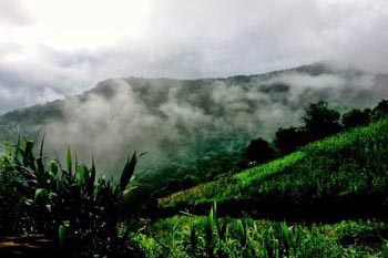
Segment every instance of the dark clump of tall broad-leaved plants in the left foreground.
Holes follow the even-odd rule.
[[[76,257],[127,255],[127,231],[119,234],[119,227],[131,216],[124,208],[136,154],[115,184],[96,177],[94,162],[88,167],[73,161],[70,149],[64,167],[58,159],[44,159],[43,141],[38,156],[33,148],[33,142],[24,140],[1,157],[0,196],[16,207],[1,205],[1,230],[43,234]]]

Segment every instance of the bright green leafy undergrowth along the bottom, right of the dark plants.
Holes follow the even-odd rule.
[[[378,221],[306,226],[218,218],[213,206],[207,216],[161,219],[132,240],[147,257],[381,257],[387,233]]]

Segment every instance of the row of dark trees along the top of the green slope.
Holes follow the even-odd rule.
[[[310,142],[354,127],[365,126],[387,116],[387,100],[378,103],[372,110],[353,109],[343,115],[330,109],[325,101],[310,103],[302,116],[303,124],[300,126],[278,128],[272,143],[262,137],[253,140],[245,149],[245,161],[242,164],[245,167],[262,164],[292,153]]]

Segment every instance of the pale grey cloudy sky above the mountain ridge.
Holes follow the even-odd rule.
[[[388,71],[386,0],[0,0],[0,113],[119,76]]]

